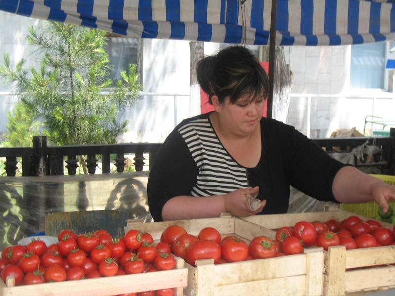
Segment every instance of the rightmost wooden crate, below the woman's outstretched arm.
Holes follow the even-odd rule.
[[[313,213],[293,213],[275,215],[256,215],[242,218],[269,229],[282,226],[294,226],[298,221],[326,222],[329,219],[339,221],[356,215],[336,210]],[[359,216],[363,221],[371,218]],[[381,222],[392,229],[394,225]],[[305,248],[308,250],[310,248]],[[344,246],[330,247],[325,254],[325,275],[323,295],[337,296],[356,291],[385,290],[395,287],[395,246],[346,250]],[[377,267],[386,265],[385,267]],[[355,269],[361,268],[361,269]]]

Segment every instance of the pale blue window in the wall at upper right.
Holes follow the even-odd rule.
[[[384,89],[386,43],[351,46],[350,87]]]

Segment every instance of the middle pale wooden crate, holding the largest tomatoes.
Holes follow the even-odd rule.
[[[223,236],[235,234],[247,243],[256,236],[275,237],[275,232],[242,219],[225,215],[219,218],[191,219],[141,223],[129,221],[130,229],[146,230],[160,240],[161,233],[170,225],[182,226],[197,235],[205,227],[216,228]],[[214,265],[213,259],[198,260],[188,268],[187,296],[240,295],[321,295],[323,288],[323,249],[306,250],[303,254],[257,259]]]

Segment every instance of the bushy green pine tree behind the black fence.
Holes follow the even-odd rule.
[[[27,39],[37,46],[40,69],[27,71],[23,59],[12,69],[5,54],[0,76],[15,86],[32,124],[42,121],[43,133],[56,145],[115,143],[127,125],[118,113],[132,106],[141,90],[136,65],[109,88],[104,31],[49,22],[40,33],[30,28]]]

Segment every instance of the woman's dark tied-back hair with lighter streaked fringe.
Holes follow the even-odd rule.
[[[220,103],[230,97],[231,104],[248,95],[251,99],[266,98],[269,79],[258,59],[242,46],[230,46],[197,63],[197,81],[208,94],[216,95]]]

